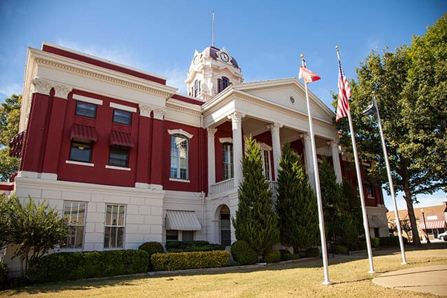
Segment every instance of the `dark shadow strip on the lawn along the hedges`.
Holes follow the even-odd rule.
[[[422,244],[422,246],[413,246],[411,244],[405,246],[407,252],[410,251],[427,251],[447,249],[447,242],[435,242],[433,244]],[[392,256],[400,254],[400,248],[381,248],[373,251],[373,256]],[[344,264],[348,262],[355,262],[360,259],[367,259],[367,251],[356,251],[351,255],[331,255],[329,254],[328,262],[330,265]],[[417,264],[419,262],[416,262]],[[426,264],[426,262],[421,262]],[[256,271],[276,271],[287,270],[296,268],[322,268],[323,260],[321,258],[306,258],[298,259],[289,262],[281,262],[276,264],[268,264],[265,266],[252,265],[252,266],[235,266],[235,267],[223,267],[223,268],[208,268],[197,270],[178,270],[178,271],[164,271],[160,273],[139,274],[139,275],[124,275],[118,277],[101,277],[97,279],[80,279],[76,281],[60,281],[51,284],[33,284],[31,286],[25,286],[23,288],[16,288],[10,290],[0,291],[0,296],[8,297],[12,295],[20,295],[21,293],[39,294],[46,292],[62,292],[64,290],[90,290],[91,288],[107,288],[112,286],[133,286],[135,281],[140,279],[166,279],[166,281],[173,280],[172,277],[176,276],[197,276],[197,275],[221,275],[225,273],[252,273]],[[376,273],[385,273],[376,272]],[[334,282],[333,284],[347,284],[352,282],[361,282],[373,279],[373,276],[364,279],[352,279],[349,281]],[[79,295],[82,295],[80,292]]]

